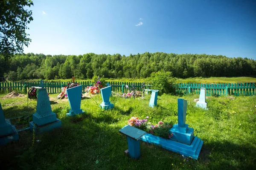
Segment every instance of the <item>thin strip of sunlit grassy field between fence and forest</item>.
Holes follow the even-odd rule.
[[[40,79],[29,80],[29,82],[39,81]],[[26,80],[24,80],[26,81]],[[56,79],[49,80],[50,82],[71,82],[71,79]],[[75,81],[92,81],[92,79],[76,79]],[[147,79],[108,79],[110,82],[147,82]],[[23,82],[23,81],[20,81]],[[241,82],[256,82],[256,77],[193,77],[187,79],[177,78],[177,83],[241,83]]]

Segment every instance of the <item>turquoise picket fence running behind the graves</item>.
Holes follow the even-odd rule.
[[[61,88],[67,86],[70,82],[44,82],[44,87],[47,88],[49,94],[58,94],[61,92]],[[76,82],[82,85],[83,93],[87,86],[93,85],[91,81]],[[112,91],[126,93],[128,90],[131,91],[133,82],[108,82],[112,86]],[[22,91],[24,88],[26,91],[29,88],[38,86],[39,82],[0,82],[0,93],[6,93],[10,91]],[[142,82],[134,82],[134,87],[138,91],[142,91]],[[126,88],[128,86],[128,88]],[[145,85],[145,90],[148,91],[150,85]],[[227,95],[243,95],[250,96],[256,95],[256,83],[176,83],[176,92],[182,94],[199,94],[200,88],[206,88],[207,96],[227,96]]]

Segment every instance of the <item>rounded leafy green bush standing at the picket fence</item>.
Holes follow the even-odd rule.
[[[175,87],[174,83],[176,78],[172,77],[172,72],[170,71],[158,71],[151,73],[148,78],[148,82],[152,84],[152,88],[159,90],[159,94],[174,94]]]

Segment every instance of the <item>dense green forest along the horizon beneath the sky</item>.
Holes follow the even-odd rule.
[[[174,77],[236,77],[256,75],[256,61],[207,54],[166,54],[163,52],[121,56],[120,54],[0,56],[0,77],[23,79],[146,78],[152,72],[171,71]]]

